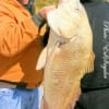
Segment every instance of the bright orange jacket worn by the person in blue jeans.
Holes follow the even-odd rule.
[[[35,69],[41,49],[29,12],[16,0],[0,0],[0,81],[37,86],[43,80],[43,71]]]

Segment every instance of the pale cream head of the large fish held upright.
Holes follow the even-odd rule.
[[[85,9],[80,0],[60,1],[58,8],[48,13],[47,17],[50,28],[64,38],[76,36],[80,28],[88,24]]]

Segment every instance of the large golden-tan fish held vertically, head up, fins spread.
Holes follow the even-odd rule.
[[[69,109],[81,78],[94,70],[93,33],[85,9],[80,0],[64,1],[48,14],[49,40],[36,66],[45,66],[44,109]]]

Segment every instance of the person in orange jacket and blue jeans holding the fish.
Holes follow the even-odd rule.
[[[34,0],[0,0],[0,109],[39,109],[40,29],[55,7],[35,13],[33,4]]]

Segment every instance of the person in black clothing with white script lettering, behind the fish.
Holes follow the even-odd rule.
[[[82,78],[74,109],[109,109],[109,2],[83,0],[93,31],[94,72]]]

